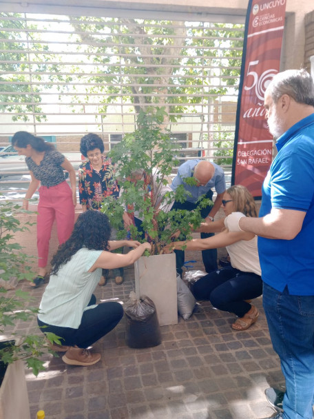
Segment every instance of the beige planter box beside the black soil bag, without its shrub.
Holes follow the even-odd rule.
[[[156,305],[160,326],[178,323],[176,255],[142,256],[134,265],[136,298],[148,296]]]

